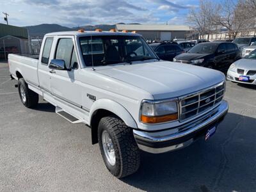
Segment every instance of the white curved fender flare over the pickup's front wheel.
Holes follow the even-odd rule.
[[[110,99],[99,99],[93,103],[89,114],[90,125],[92,117],[98,109],[105,109],[114,113],[119,116],[128,127],[138,128],[134,118],[132,118],[131,114],[124,108],[124,106]]]

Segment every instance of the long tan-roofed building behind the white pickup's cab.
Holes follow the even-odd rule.
[[[189,26],[159,24],[116,24],[116,31],[136,31],[145,40],[185,39],[193,31]]]

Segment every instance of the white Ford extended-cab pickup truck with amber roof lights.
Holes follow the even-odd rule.
[[[136,33],[49,33],[38,58],[9,54],[8,63],[24,106],[41,95],[58,115],[88,125],[118,178],[138,170],[140,150],[207,140],[228,111],[221,72],[161,61]]]

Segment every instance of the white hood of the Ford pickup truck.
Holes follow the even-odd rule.
[[[154,99],[180,97],[225,80],[217,70],[169,61],[108,66],[96,72],[137,86]]]

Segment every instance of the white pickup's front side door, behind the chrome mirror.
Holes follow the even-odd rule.
[[[56,39],[54,60],[65,61],[69,70],[51,70],[51,92],[59,101],[68,102],[72,107],[83,106],[83,88],[79,84],[81,68],[77,61],[76,44],[73,36],[60,36]]]

